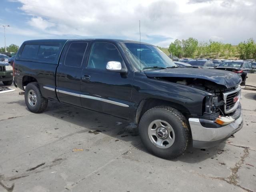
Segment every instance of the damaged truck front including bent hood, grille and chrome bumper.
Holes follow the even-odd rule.
[[[197,112],[188,114],[193,146],[210,148],[229,138],[243,126],[240,105],[242,78],[233,72],[221,70],[166,69],[145,71],[148,78],[193,87],[195,92],[179,93],[195,98],[196,90],[206,96]],[[199,94],[198,94],[199,96]],[[184,103],[186,105],[186,103]],[[191,109],[191,105],[190,105]],[[192,109],[195,112],[195,110]]]

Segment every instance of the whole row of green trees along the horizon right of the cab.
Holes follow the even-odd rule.
[[[179,58],[240,58],[256,59],[256,42],[250,38],[237,46],[209,40],[198,42],[195,38],[176,39],[168,51]]]

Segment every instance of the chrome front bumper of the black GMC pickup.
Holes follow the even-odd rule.
[[[238,107],[237,110],[241,110]],[[236,112],[236,115],[238,113]],[[242,113],[239,111],[239,116],[236,116],[236,120],[226,126],[219,128],[206,128],[202,126],[199,118],[189,118],[189,124],[192,133],[193,147],[195,148],[210,148],[218,145],[222,141],[229,138],[232,134],[242,129],[243,118]]]

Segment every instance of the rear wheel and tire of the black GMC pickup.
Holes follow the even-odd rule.
[[[26,86],[25,102],[28,109],[33,113],[43,112],[48,105],[48,100],[42,96],[36,82],[29,83]]]

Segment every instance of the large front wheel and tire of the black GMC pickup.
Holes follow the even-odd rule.
[[[165,128],[156,126],[159,121],[166,127],[166,130],[168,129],[168,132],[164,132]],[[151,134],[155,130],[156,136],[153,135],[154,133]],[[157,130],[162,133],[160,134]],[[181,112],[168,106],[157,106],[146,111],[139,123],[139,134],[146,149],[164,159],[174,159],[184,154],[191,138],[187,119]],[[164,134],[167,138],[160,139],[159,134],[160,136]],[[160,145],[157,144],[158,139],[160,139]]]

